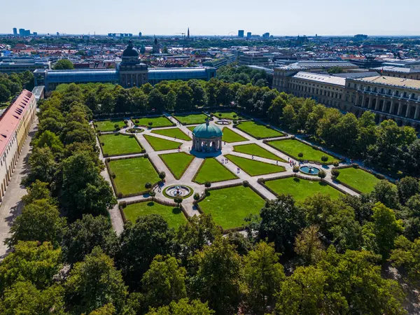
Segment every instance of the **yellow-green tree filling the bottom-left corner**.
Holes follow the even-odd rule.
[[[6,289],[0,300],[3,315],[64,315],[64,290],[49,286],[38,290],[31,281],[18,281]]]

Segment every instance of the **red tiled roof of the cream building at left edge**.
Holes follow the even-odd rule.
[[[13,133],[18,127],[20,119],[27,111],[29,104],[31,103],[31,99],[33,98],[35,98],[34,94],[28,90],[23,90],[18,99],[8,106],[6,111],[4,111],[3,115],[0,117],[0,156],[3,155],[3,151],[7,148]]]

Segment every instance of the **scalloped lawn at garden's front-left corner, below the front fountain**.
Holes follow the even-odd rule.
[[[139,216],[147,216],[148,214],[159,214],[168,223],[169,228],[179,228],[187,222],[186,217],[179,208],[164,206],[158,202],[137,202],[129,204],[124,208],[124,214],[127,221],[135,223]]]

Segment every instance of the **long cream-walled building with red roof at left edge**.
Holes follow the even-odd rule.
[[[35,96],[28,90],[23,90],[0,117],[0,202],[6,193],[35,115]]]

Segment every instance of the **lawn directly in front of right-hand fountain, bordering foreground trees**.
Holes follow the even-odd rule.
[[[295,177],[266,181],[265,185],[278,195],[292,195],[298,202],[302,202],[306,197],[316,193],[328,194],[332,199],[342,195],[337,189],[322,181],[307,181],[306,179],[297,179]]]

